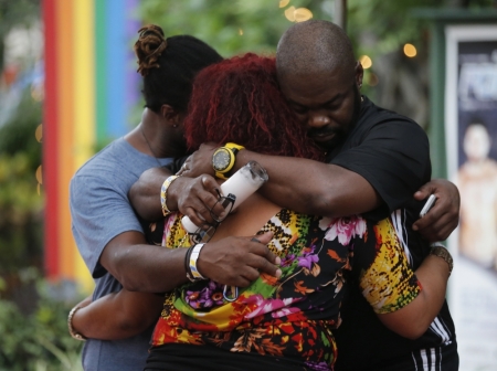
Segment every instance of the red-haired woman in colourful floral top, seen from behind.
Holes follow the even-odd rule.
[[[274,60],[254,54],[197,76],[184,130],[190,149],[205,140],[233,141],[264,153],[324,157],[279,93]],[[166,220],[162,245],[192,251],[199,245],[181,216]],[[388,219],[305,215],[254,193],[216,225],[208,243],[243,239],[237,236],[267,244],[278,256],[276,277],[256,273],[247,287],[226,290],[197,267],[198,279],[166,295],[146,370],[331,370],[346,276],[401,335],[408,321],[417,321],[423,333],[436,315],[416,317],[425,310],[430,282],[412,272]],[[189,261],[186,271],[192,274]]]

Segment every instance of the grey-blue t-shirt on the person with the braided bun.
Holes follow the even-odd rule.
[[[171,159],[159,159],[168,165]],[[94,299],[118,292],[121,285],[98,263],[107,243],[120,233],[142,232],[128,201],[128,191],[147,169],[158,167],[123,138],[91,158],[73,177],[70,189],[72,230],[77,248],[95,278]],[[116,341],[88,340],[83,349],[85,370],[142,370],[152,327]]]

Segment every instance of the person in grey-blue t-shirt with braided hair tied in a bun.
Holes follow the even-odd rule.
[[[166,262],[162,267],[171,273],[172,283],[173,277],[178,276],[175,269],[167,268],[168,264],[176,262],[175,257],[161,255],[163,248],[157,252],[154,250],[156,246],[147,244],[127,193],[145,170],[167,165],[173,157],[186,153],[182,120],[187,114],[193,77],[202,68],[222,60],[204,42],[190,35],[165,38],[157,25],[139,30],[135,51],[144,84],[145,109],[141,123],[124,138],[95,155],[71,181],[72,230],[80,253],[96,279],[94,300],[117,293],[121,284],[128,288],[142,288],[142,277],[150,271],[148,252],[158,264]],[[133,279],[136,280],[129,280],[124,275],[131,272],[133,267],[123,264],[120,256],[123,253],[133,255],[134,252],[140,255],[134,259],[135,266],[139,267],[139,262],[144,262],[147,268],[141,274],[139,269],[138,273],[134,272]],[[154,305],[148,304],[161,301],[159,297],[140,293],[134,295],[148,308],[154,308]],[[155,312],[157,316],[159,310]],[[106,371],[142,369],[152,322],[136,324],[135,336],[124,340],[89,339],[83,351],[84,368]],[[101,339],[109,340],[105,337]]]

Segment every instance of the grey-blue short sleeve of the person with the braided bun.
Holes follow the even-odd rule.
[[[73,235],[94,278],[107,272],[99,264],[99,257],[110,240],[124,232],[142,233],[126,192],[118,187],[89,176],[75,176],[71,181]]]

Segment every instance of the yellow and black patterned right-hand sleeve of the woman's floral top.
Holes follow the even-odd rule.
[[[422,287],[409,265],[389,219],[372,227],[364,246],[355,248],[353,272],[366,300],[377,314],[396,311],[420,294]],[[369,229],[369,232],[372,232]]]

